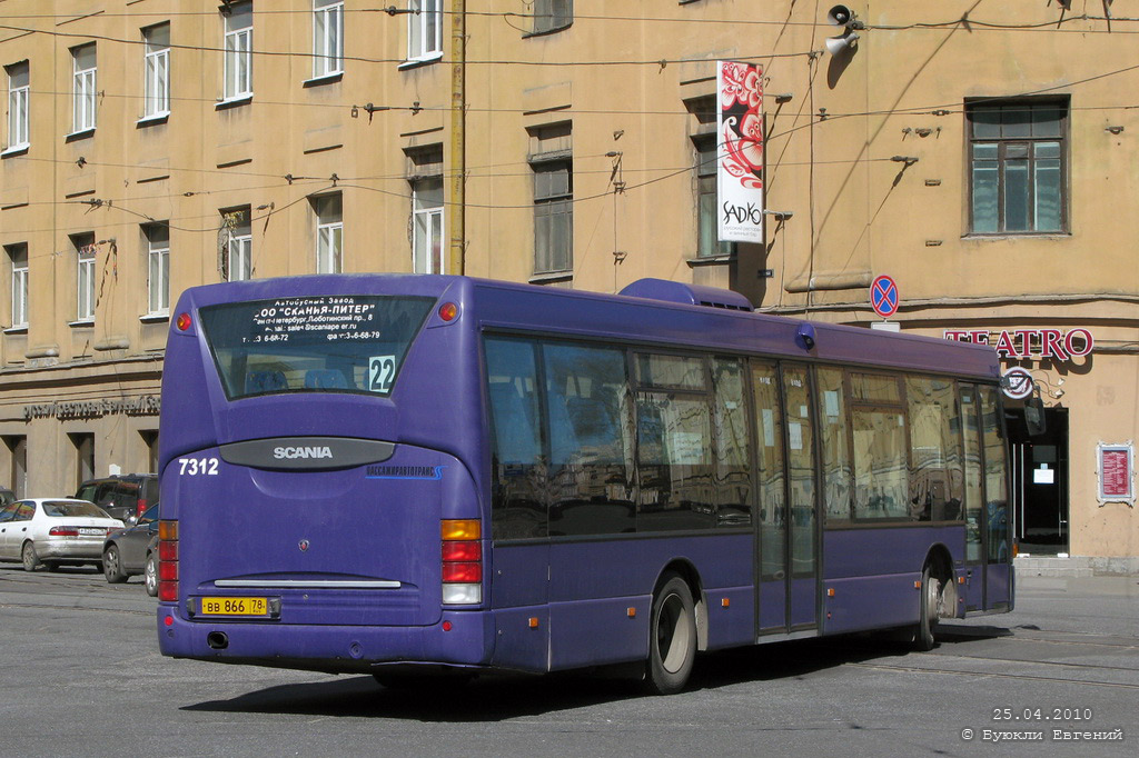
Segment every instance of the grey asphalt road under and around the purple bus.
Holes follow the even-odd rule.
[[[409,694],[171,660],[154,604],[138,578],[0,565],[0,756],[1139,752],[1136,577],[1022,578],[1015,612],[945,623],[932,653],[860,637],[708,653],[669,698],[581,674]]]

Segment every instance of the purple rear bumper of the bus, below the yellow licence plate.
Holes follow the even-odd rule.
[[[494,650],[490,611],[444,611],[429,626],[318,626],[265,621],[189,621],[158,607],[164,656],[327,673],[372,673],[378,665],[487,666]]]

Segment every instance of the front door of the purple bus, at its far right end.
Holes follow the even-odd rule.
[[[1011,599],[1010,512],[997,392],[961,384],[965,558],[974,571],[966,610],[1007,608]]]

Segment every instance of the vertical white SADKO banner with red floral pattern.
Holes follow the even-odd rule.
[[[763,241],[763,69],[718,61],[716,171],[719,237]]]

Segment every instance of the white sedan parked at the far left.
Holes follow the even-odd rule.
[[[123,522],[98,505],[69,497],[17,500],[0,510],[0,560],[23,561],[24,570],[42,563],[60,566],[103,562],[107,533]]]

